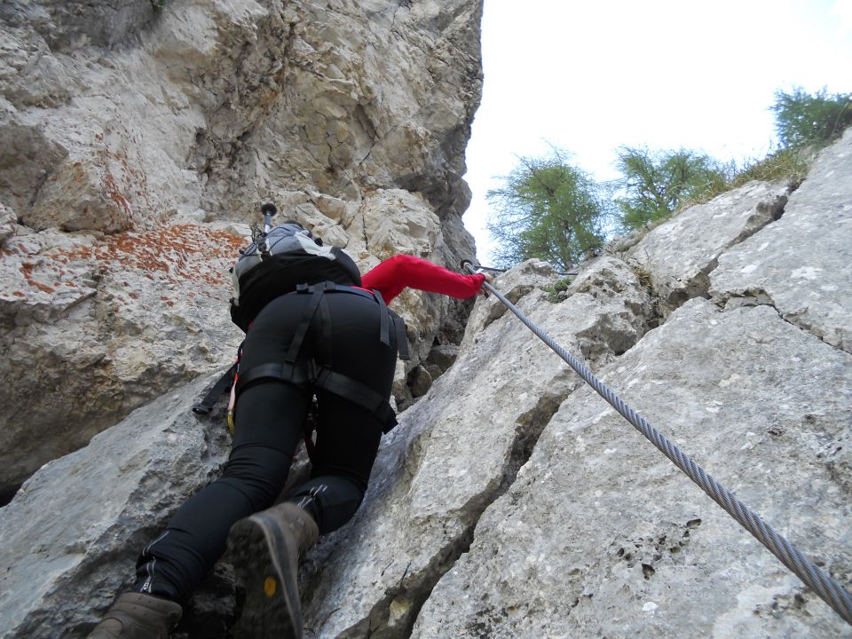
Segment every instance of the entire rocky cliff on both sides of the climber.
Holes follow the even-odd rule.
[[[220,472],[222,411],[189,406],[239,338],[223,272],[257,202],[363,268],[470,249],[479,4],[148,6],[0,6],[4,481],[157,397],[2,509],[4,639],[85,636]],[[789,191],[684,211],[559,296],[538,262],[495,286],[850,588],[852,131]],[[394,305],[424,394],[305,559],[307,637],[852,636],[493,296],[463,338],[445,299]],[[174,636],[228,636],[228,561]]]

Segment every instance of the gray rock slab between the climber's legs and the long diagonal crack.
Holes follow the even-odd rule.
[[[523,280],[531,265],[514,271],[504,281]],[[606,290],[620,287],[629,300],[628,289],[641,287],[626,265],[619,272],[626,280],[616,271]],[[534,287],[516,300],[580,357],[577,327],[582,341],[622,331],[639,338],[623,317],[613,321],[630,312],[625,299],[591,284],[563,304],[548,303]],[[430,589],[469,545],[483,509],[511,485],[550,415],[580,383],[514,317],[477,324],[492,304],[477,301],[456,364],[401,415],[353,523],[309,557],[304,614],[314,636],[405,636]],[[604,357],[608,343],[621,342],[604,339],[596,356]]]

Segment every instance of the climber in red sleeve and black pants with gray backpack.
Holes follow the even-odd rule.
[[[248,331],[222,476],[185,501],[143,548],[133,588],[90,639],[166,639],[226,546],[246,588],[237,632],[302,637],[298,557],[355,514],[383,431],[396,423],[389,401],[398,331],[390,330],[395,322],[385,304],[406,287],[464,298],[491,280],[403,255],[362,278],[343,250],[323,246],[297,223],[284,226],[289,248],[270,255],[262,240],[252,245],[265,251],[260,265],[245,273],[235,266],[232,317]],[[314,395],[312,476],[272,506]]]

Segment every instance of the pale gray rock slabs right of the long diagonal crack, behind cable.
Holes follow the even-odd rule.
[[[662,304],[693,298],[600,371],[847,588],[852,359],[841,335],[852,304],[838,284],[850,281],[850,152],[852,130],[821,154],[777,221],[784,195],[753,184],[649,233],[627,258],[651,272]],[[746,230],[761,210],[773,212]],[[706,233],[708,213],[731,223]],[[575,635],[852,629],[584,387],[478,520],[412,634]]]

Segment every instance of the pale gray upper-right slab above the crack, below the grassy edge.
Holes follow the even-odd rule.
[[[711,280],[720,303],[771,304],[852,352],[852,130],[819,154],[784,217],[720,257]]]

